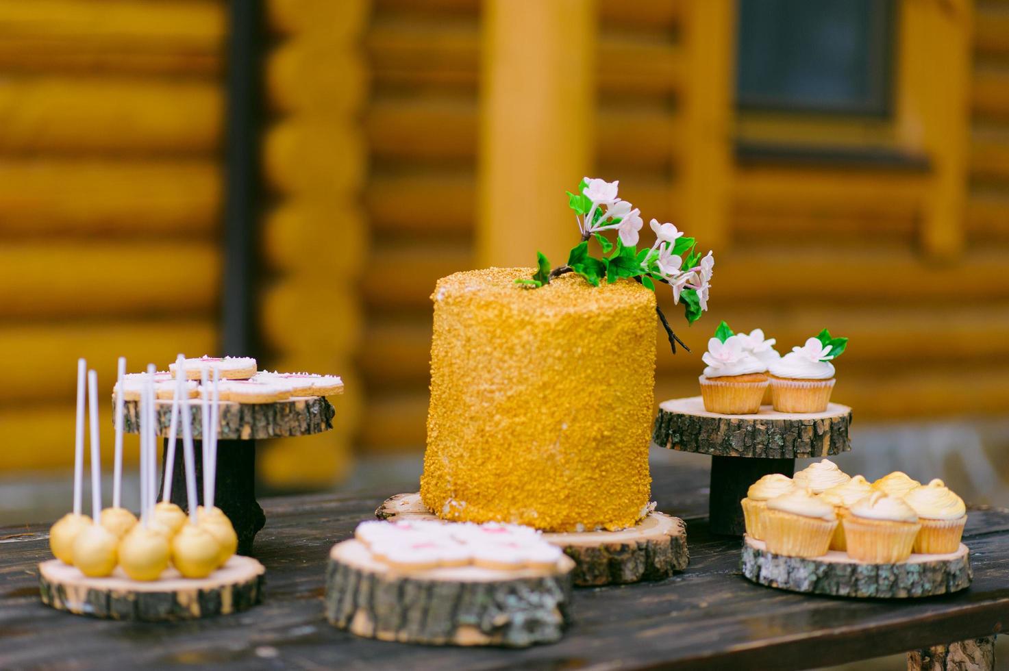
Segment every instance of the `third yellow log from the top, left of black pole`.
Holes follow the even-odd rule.
[[[206,236],[220,201],[213,160],[0,160],[5,234]]]

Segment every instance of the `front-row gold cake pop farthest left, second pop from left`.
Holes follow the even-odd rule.
[[[119,537],[103,527],[102,515],[102,448],[98,442],[98,374],[88,371],[88,428],[91,431],[91,515],[92,524],[74,539],[74,565],[91,577],[112,573],[117,562]]]

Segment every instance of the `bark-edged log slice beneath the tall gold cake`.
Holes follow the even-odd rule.
[[[375,511],[379,520],[438,520],[419,493],[397,494]],[[452,524],[452,523],[446,523]],[[651,513],[622,531],[544,533],[543,540],[564,549],[575,562],[579,587],[662,580],[687,567],[686,525],[665,513]]]

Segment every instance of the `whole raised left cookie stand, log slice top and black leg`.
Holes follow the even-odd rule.
[[[203,422],[199,403],[190,406],[190,415],[196,456],[197,498],[202,505]],[[255,497],[255,441],[260,438],[310,436],[329,431],[333,428],[334,415],[333,406],[323,397],[299,397],[269,404],[220,402],[214,504],[228,516],[235,528],[238,554],[252,554],[252,541],[266,522]],[[157,422],[165,447],[161,458],[161,483],[158,491],[163,491],[164,487],[163,462],[167,458],[171,421],[172,402],[158,401]],[[127,433],[138,433],[135,401],[124,403],[123,429]],[[188,511],[182,442],[180,425],[172,471],[172,501]]]

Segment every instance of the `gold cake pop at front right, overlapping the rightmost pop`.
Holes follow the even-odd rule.
[[[180,355],[176,374],[186,378],[185,358]],[[180,399],[183,423],[183,457],[186,463],[186,496],[189,501],[189,524],[183,525],[172,539],[172,562],[187,578],[205,578],[219,565],[221,548],[217,540],[197,525],[196,457],[193,454],[193,428],[190,424],[189,399]]]

